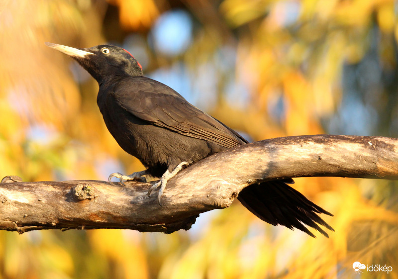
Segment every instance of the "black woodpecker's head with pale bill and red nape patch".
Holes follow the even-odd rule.
[[[113,45],[73,48],[53,43],[47,46],[75,59],[101,84],[114,76],[142,76],[142,67],[125,49]]]

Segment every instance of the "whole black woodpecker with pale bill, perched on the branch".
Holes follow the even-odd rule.
[[[140,175],[161,178],[182,162],[191,165],[211,154],[247,143],[170,87],[144,77],[140,64],[120,47],[75,49],[47,45],[73,57],[97,80],[100,85],[97,103],[106,127],[120,147],[147,168]],[[121,181],[126,179],[121,176],[117,176]],[[272,225],[298,228],[314,237],[307,225],[327,236],[319,225],[333,229],[317,214],[332,214],[285,182],[250,185],[239,193],[238,199]]]

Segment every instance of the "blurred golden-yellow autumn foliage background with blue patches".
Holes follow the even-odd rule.
[[[0,176],[106,180],[143,167],[110,136],[98,85],[44,45],[119,45],[144,73],[252,140],[398,137],[394,0],[0,0]],[[296,179],[335,214],[312,239],[238,202],[171,235],[0,231],[4,279],[398,278],[398,185]],[[355,275],[352,264],[393,272]]]

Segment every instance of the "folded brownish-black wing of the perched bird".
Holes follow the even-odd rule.
[[[246,142],[179,93],[152,79],[126,77],[114,87],[112,94],[120,107],[153,125],[226,148]]]

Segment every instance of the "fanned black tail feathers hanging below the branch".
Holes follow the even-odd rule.
[[[305,225],[326,237],[329,237],[328,234],[319,225],[334,231],[317,215],[323,213],[333,216],[331,213],[282,181],[247,186],[239,193],[238,199],[257,217],[274,226],[283,225],[291,230],[297,228],[312,237],[315,235]]]

